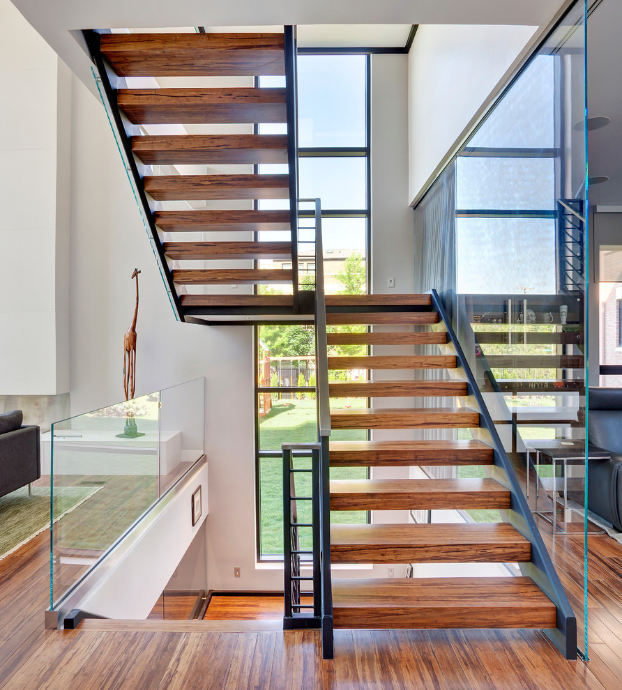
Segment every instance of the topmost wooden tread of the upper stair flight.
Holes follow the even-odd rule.
[[[101,51],[120,77],[285,74],[282,33],[104,33]]]

